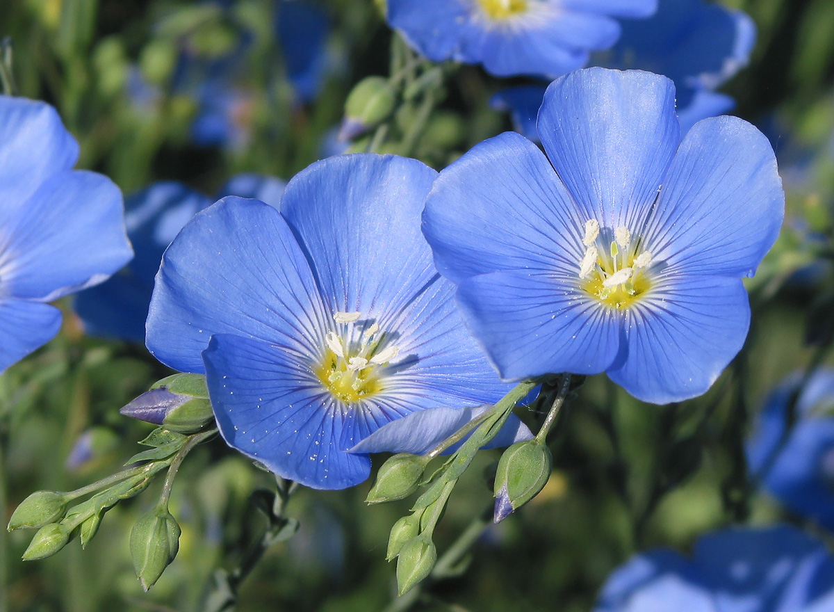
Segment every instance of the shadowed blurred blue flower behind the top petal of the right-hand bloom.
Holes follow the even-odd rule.
[[[733,108],[733,99],[715,90],[746,66],[754,43],[756,26],[746,13],[705,0],[660,0],[653,17],[623,23],[620,40],[591,56],[590,63],[671,78],[681,133],[686,134],[701,119]],[[545,83],[505,89],[491,104],[510,111],[515,130],[538,142],[535,116],[545,89]]]

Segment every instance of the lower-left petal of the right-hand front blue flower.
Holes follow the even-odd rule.
[[[460,283],[458,305],[506,380],[602,372],[620,346],[618,317],[551,277],[475,276]]]

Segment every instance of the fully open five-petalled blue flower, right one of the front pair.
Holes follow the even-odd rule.
[[[744,343],[741,276],[784,214],[767,139],[716,117],[681,141],[669,79],[605,68],[552,83],[538,127],[547,157],[500,134],[426,202],[467,325],[508,380],[607,372],[647,402],[705,392]]]

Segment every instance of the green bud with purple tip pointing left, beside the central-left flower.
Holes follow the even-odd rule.
[[[181,433],[199,431],[214,418],[205,377],[200,374],[163,378],[118,412]]]

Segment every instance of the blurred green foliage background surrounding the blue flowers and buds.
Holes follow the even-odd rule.
[[[388,74],[392,36],[371,0],[309,3],[329,24],[312,94],[290,74],[294,50],[309,41],[304,32],[282,40],[279,7],[268,0],[6,0],[0,35],[13,40],[18,94],[58,108],[81,144],[80,167],[107,174],[127,194],[155,180],[214,193],[233,174],[286,180],[334,152],[351,87]],[[754,318],[745,351],[711,392],[682,405],[648,406],[602,377],[585,382],[561,417],[551,445],[555,472],[543,493],[485,529],[462,559],[468,569],[425,585],[408,603],[413,609],[579,612],[637,550],[686,550],[697,534],[733,522],[801,523],[748,481],[744,443],[766,393],[788,372],[831,363],[834,3],[726,5],[751,15],[758,40],[750,66],[723,90],[736,99],[736,114],[771,137],[788,195],[786,228],[750,283]],[[223,96],[232,92],[230,101],[203,88],[213,79]],[[510,129],[488,104],[506,83],[460,68],[415,139],[414,156],[441,168]],[[231,124],[207,141],[198,120],[221,103],[233,107]],[[415,112],[401,105],[394,123],[407,131]],[[151,427],[120,417],[118,407],[169,373],[143,346],[85,336],[69,302],[63,307],[61,335],[0,377],[0,508],[7,521],[33,490],[78,488],[137,452],[135,441]],[[441,554],[490,508],[498,457],[480,453],[455,491],[437,532]],[[73,542],[51,559],[23,564],[31,534],[3,531],[0,607],[201,609],[214,570],[234,568],[259,538],[264,518],[249,496],[274,481],[219,440],[198,448],[173,491],[180,552],[144,594],[128,534],[160,486],[108,513],[83,551]],[[299,533],[267,551],[238,609],[406,609],[394,598],[384,549],[409,500],[365,507],[369,486],[296,493],[288,513],[299,518]]]

